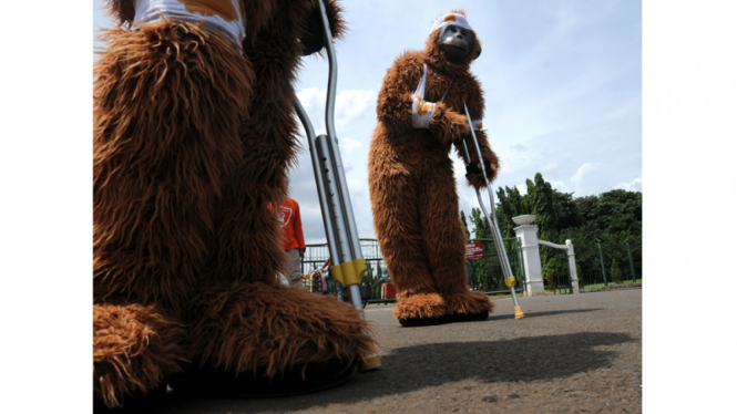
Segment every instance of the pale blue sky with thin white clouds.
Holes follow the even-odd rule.
[[[95,3],[94,30],[109,27]],[[421,49],[432,21],[461,8],[483,45],[471,71],[485,91],[483,124],[501,161],[492,184],[525,189],[540,172],[574,197],[642,190],[642,8],[639,1],[342,1],[349,31],[337,44],[336,130],[358,231],[375,237],[368,148],[383,75],[405,50]],[[96,43],[100,46],[99,43]],[[328,64],[308,58],[298,96],[325,131]],[[308,244],[325,231],[308,146],[290,172]],[[478,207],[455,155],[461,209]],[[488,199],[484,201],[488,205]]]

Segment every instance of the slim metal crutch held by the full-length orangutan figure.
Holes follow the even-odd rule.
[[[473,144],[475,146],[475,151],[479,154],[479,165],[481,166],[481,174],[483,175],[483,179],[487,182],[487,190],[489,192],[489,201],[491,203],[491,216],[487,211],[487,207],[484,207],[483,200],[481,199],[481,194],[479,193],[478,189],[475,190],[475,195],[477,198],[479,199],[479,205],[481,206],[484,216],[487,216],[487,221],[489,221],[489,227],[491,227],[491,236],[494,240],[494,246],[497,247],[499,261],[502,266],[502,273],[504,275],[504,284],[506,284],[506,287],[510,288],[512,291],[512,299],[514,300],[514,319],[522,319],[524,318],[524,312],[522,312],[522,308],[520,307],[520,301],[516,299],[516,292],[514,291],[514,283],[516,279],[512,273],[512,267],[510,266],[509,259],[506,257],[506,249],[504,249],[504,241],[502,240],[502,234],[501,231],[499,231],[499,225],[497,224],[497,213],[494,211],[494,195],[491,192],[491,184],[489,183],[489,178],[487,177],[487,168],[483,166],[483,156],[481,155],[481,147],[479,146],[479,141],[477,139],[475,133],[473,132],[473,123],[471,122],[471,115],[469,115],[469,107],[465,105],[465,102],[463,102],[463,108],[465,110],[465,117],[469,121],[469,127],[471,130],[471,136],[473,137]],[[468,163],[471,164],[471,155],[469,154],[469,148],[465,144],[465,138],[462,139],[462,142],[463,142],[463,149],[465,151],[465,159],[468,159]]]

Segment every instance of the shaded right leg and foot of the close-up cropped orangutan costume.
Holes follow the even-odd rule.
[[[316,391],[345,380],[375,352],[354,307],[277,282],[288,256],[269,205],[286,195],[296,125],[284,110],[291,97],[272,105],[274,97],[259,94],[257,113],[242,128],[243,162],[223,188],[211,262],[188,312],[193,365],[173,380],[176,392]]]

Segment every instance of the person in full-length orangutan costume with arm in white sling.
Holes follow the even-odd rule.
[[[465,234],[450,149],[463,157],[465,103],[490,182],[499,169],[481,130],[484,103],[469,65],[481,43],[463,11],[432,24],[423,51],[402,53],[379,91],[369,149],[369,193],[379,247],[397,286],[395,317],[405,325],[483,320],[493,303],[469,291]],[[467,179],[485,187],[473,143]]]

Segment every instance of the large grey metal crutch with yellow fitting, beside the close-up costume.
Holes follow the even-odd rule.
[[[315,172],[315,182],[317,183],[317,195],[320,200],[320,210],[323,211],[323,222],[325,225],[325,235],[328,239],[328,248],[334,266],[330,268],[332,277],[337,279],[350,293],[350,301],[364,314],[364,303],[359,284],[366,273],[366,260],[361,251],[354,209],[350,204],[348,184],[342,168],[340,151],[338,148],[338,138],[335,132],[335,97],[336,85],[338,81],[338,62],[332,48],[332,34],[330,24],[323,1],[317,1],[320,8],[320,20],[323,22],[323,34],[325,35],[325,49],[328,54],[329,75],[328,75],[328,96],[325,111],[325,125],[327,136],[315,136],[315,130],[309,121],[305,108],[295,100],[295,110],[305,126],[307,141],[309,142],[309,153],[313,158],[313,169]],[[379,368],[381,364],[379,355],[373,354],[367,359],[367,362],[359,366],[359,370],[367,371]]]

